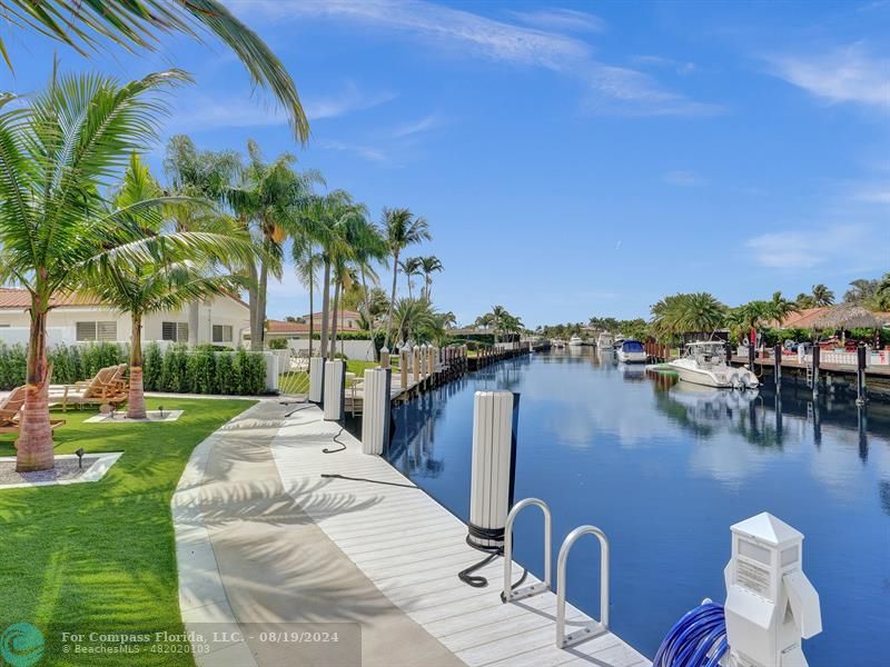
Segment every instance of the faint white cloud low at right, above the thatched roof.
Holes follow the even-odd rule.
[[[745,246],[763,267],[809,269],[830,260],[861,258],[867,248],[873,248],[869,236],[864,225],[833,225],[767,232],[749,239]]]

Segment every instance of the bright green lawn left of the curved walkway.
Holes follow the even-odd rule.
[[[0,633],[12,623],[38,626],[47,640],[41,666],[194,664],[187,654],[61,653],[61,631],[182,631],[170,497],[195,446],[254,401],[147,402],[185,414],[120,425],[83,424],[95,410],[63,415],[57,452],[125,452],[101,481],[0,491]],[[0,456],[14,455],[13,439],[0,436]]]

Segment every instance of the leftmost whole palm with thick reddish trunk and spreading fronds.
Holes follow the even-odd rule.
[[[31,298],[18,470],[55,465],[46,391],[50,299],[78,288],[85,262],[98,255],[113,250],[141,261],[161,242],[145,238],[131,215],[176,199],[117,209],[98,186],[155,139],[164,108],[156,93],[187,80],[179,70],[125,84],[102,74],[53,73],[27,106],[0,110],[0,282],[19,283]],[[2,97],[0,107],[13,99]]]

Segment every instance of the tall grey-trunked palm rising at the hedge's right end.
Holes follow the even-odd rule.
[[[301,210],[312,197],[313,186],[322,182],[315,171],[299,173],[291,168],[294,156],[284,153],[266,162],[256,141],[247,142],[248,165],[241,182],[226,192],[235,213],[249,229],[263,250],[258,261],[247,266],[250,288],[250,349],[261,350],[266,336],[266,296],[269,273],[281,277],[283,243],[288,235],[305,233]],[[258,266],[257,266],[258,265]]]

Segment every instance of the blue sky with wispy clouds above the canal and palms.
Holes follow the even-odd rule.
[[[290,151],[373,211],[409,207],[461,321],[647,316],[666,293],[735,305],[890,270],[890,2],[229,3],[293,73],[295,145],[224,47],[90,60],[3,29],[0,89],[69,70],[181,67],[165,136]],[[158,168],[161,148],[149,156]],[[386,283],[386,280],[384,280]],[[269,316],[303,313],[288,268]]]

